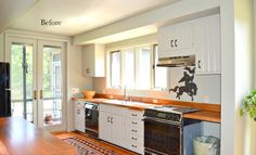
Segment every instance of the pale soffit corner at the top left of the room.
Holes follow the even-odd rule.
[[[0,33],[24,15],[38,0],[1,0]]]

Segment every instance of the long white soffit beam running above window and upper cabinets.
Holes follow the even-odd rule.
[[[179,0],[175,3],[136,14],[112,24],[79,34],[74,37],[75,44],[86,43],[106,36],[117,35],[144,26],[158,26],[174,21],[197,18],[207,14],[215,14],[219,8],[219,0]]]

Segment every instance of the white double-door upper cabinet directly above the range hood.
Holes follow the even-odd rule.
[[[194,25],[191,22],[161,27],[158,29],[158,57],[194,54]]]

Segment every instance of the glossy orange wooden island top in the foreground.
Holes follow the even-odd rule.
[[[12,155],[76,154],[75,147],[23,118],[0,118],[0,150]]]

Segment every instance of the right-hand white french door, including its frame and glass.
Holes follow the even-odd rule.
[[[65,44],[38,41],[38,125],[48,130],[65,129]]]

